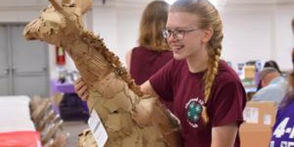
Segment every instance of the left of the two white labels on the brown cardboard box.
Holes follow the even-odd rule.
[[[258,123],[258,108],[245,108],[243,111],[243,117],[246,123]]]

